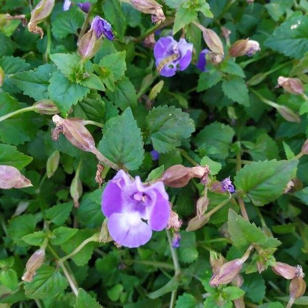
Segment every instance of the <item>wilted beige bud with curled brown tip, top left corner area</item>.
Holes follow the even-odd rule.
[[[42,23],[50,15],[54,7],[54,1],[55,0],[41,0],[31,12],[28,29],[32,33],[40,34],[41,38],[43,38],[44,32],[42,28],[37,25]]]

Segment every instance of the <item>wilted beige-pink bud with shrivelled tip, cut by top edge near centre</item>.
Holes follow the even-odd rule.
[[[128,2],[138,11],[151,14],[152,23],[160,24],[165,21],[162,6],[155,0],[128,0]]]

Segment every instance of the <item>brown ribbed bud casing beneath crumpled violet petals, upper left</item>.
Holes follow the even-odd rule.
[[[91,59],[100,49],[103,38],[97,38],[94,29],[89,30],[78,42],[78,52],[83,59]]]

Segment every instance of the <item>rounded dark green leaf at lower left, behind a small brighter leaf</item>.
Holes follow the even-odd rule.
[[[25,242],[22,240],[22,237],[33,233],[35,226],[36,220],[32,214],[18,216],[10,221],[8,233],[18,246],[26,246]]]

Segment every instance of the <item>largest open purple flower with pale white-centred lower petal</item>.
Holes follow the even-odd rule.
[[[162,182],[146,186],[120,170],[104,189],[102,211],[112,239],[132,248],[148,242],[152,230],[167,226],[170,205]]]

